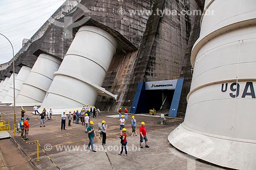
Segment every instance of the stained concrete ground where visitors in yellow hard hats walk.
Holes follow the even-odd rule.
[[[125,128],[127,129],[127,150],[128,155],[118,155],[120,152],[119,139],[119,119],[109,117],[117,113],[101,112],[102,114],[94,121],[94,127],[97,129],[98,123],[105,120],[108,125],[106,131],[108,145],[101,144],[101,138],[95,138],[96,153],[87,150],[89,143],[88,134],[85,127],[81,124],[71,123],[67,130],[60,130],[60,116],[53,116],[51,120],[46,121],[46,127],[40,126],[40,117],[31,114],[32,107],[25,107],[25,118],[30,117],[29,144],[22,140],[17,134],[13,139],[20,145],[20,148],[27,153],[33,163],[39,166],[39,169],[223,169],[196,160],[196,158],[186,155],[176,150],[167,139],[168,134],[174,130],[182,120],[167,119],[167,124],[160,125],[160,118],[154,116],[135,115],[137,119],[137,132],[140,122],[146,123],[148,145],[150,148],[139,148],[139,135],[131,137],[132,128],[130,127],[131,115],[129,115]],[[10,119],[13,129],[13,110],[8,106],[0,106],[0,112],[3,113],[5,120]],[[17,119],[20,118],[20,108],[16,109]],[[147,116],[146,116],[147,115]],[[13,131],[12,131],[13,136]],[[46,154],[39,150],[39,162],[36,162],[36,140],[39,141]],[[1,142],[1,150],[4,142]],[[144,147],[143,143],[143,147]],[[10,153],[12,151],[10,150]],[[51,160],[46,156],[48,155]],[[6,155],[8,157],[8,155]],[[5,158],[5,155],[4,155]],[[27,158],[26,158],[27,159]],[[56,166],[54,165],[54,163]],[[36,169],[36,167],[34,167]]]

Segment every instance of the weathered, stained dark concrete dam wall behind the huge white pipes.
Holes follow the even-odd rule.
[[[118,42],[117,51],[102,84],[103,88],[118,95],[117,100],[98,96],[96,105],[101,109],[116,110],[120,106],[129,108],[139,81],[168,80],[180,76],[191,28],[199,20],[193,21],[194,16],[188,15],[131,14],[131,10],[180,12],[199,9],[196,1],[78,2],[90,12],[74,8],[77,1],[69,1],[70,5],[61,7],[53,14],[53,18],[63,22],[65,16],[71,16],[74,21],[81,20],[84,15],[90,16],[90,20],[81,25],[99,27],[111,33]],[[121,14],[120,9],[124,10]],[[61,59],[67,53],[73,37],[66,38],[67,30],[50,23],[50,20],[52,18],[15,56],[16,73],[23,65],[33,67],[37,59],[33,53],[38,49]],[[73,29],[73,35],[80,27]],[[2,70],[0,78],[4,79],[11,70],[12,65]]]

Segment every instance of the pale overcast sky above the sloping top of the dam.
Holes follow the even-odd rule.
[[[0,33],[12,43],[14,55],[65,0],[0,0]],[[8,40],[0,35],[0,64],[12,59]]]

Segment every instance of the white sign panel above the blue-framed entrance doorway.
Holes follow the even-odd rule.
[[[176,88],[176,84],[177,84],[177,80],[145,82],[145,89],[146,90],[161,90],[161,89],[174,90]]]

